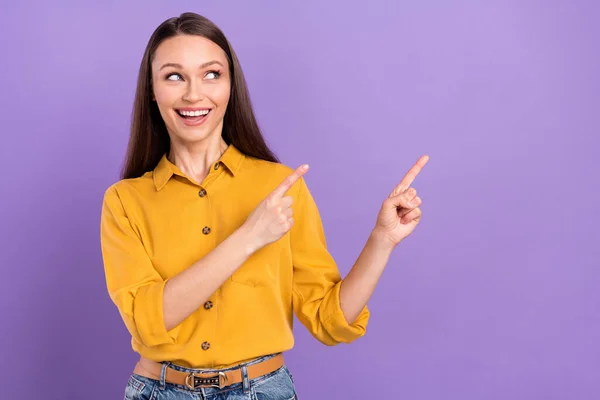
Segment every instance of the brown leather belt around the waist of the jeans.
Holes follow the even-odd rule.
[[[146,378],[160,380],[162,363],[158,363],[147,358],[142,358],[135,365],[134,374],[145,376]],[[278,354],[267,360],[256,364],[248,365],[248,379],[255,379],[267,375],[283,366],[283,354]],[[215,373],[192,373],[181,372],[173,368],[167,368],[165,371],[165,381],[177,385],[186,386],[189,389],[216,387],[224,388],[234,383],[242,382],[242,369],[237,367],[227,371],[218,371]]]

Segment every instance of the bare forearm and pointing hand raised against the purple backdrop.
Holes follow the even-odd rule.
[[[375,228],[340,287],[340,307],[352,323],[367,305],[394,248],[410,235],[421,220],[422,204],[410,185],[429,161],[421,157],[385,199]]]

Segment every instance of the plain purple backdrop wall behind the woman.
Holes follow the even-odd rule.
[[[301,399],[597,398],[597,1],[83,3],[0,6],[0,397],[123,396],[100,206],[146,41],[189,10],[230,38],[274,150],[311,164],[343,274],[431,156],[366,337],[328,348],[297,323]]]

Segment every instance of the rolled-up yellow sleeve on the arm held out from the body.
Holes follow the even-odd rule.
[[[320,342],[329,346],[350,343],[366,333],[369,310],[365,306],[355,321],[346,321],[340,306],[342,279],[327,250],[319,210],[304,178],[298,186],[290,233],[294,312]]]

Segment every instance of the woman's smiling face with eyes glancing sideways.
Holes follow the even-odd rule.
[[[195,35],[163,41],[152,61],[152,87],[171,140],[221,135],[231,82],[227,56],[215,43]]]

